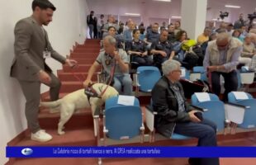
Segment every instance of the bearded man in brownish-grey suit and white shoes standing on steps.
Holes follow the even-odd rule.
[[[52,57],[62,64],[73,67],[77,62],[65,59],[50,45],[44,26],[52,21],[56,10],[48,0],[34,0],[32,2],[33,14],[17,22],[14,30],[15,57],[12,62],[11,77],[17,78],[21,90],[26,97],[26,120],[31,139],[45,142],[52,139],[50,134],[40,129],[38,112],[40,105],[40,84],[50,87],[50,99],[59,99],[61,83],[55,77],[45,59]]]

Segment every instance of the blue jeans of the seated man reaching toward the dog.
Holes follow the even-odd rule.
[[[114,77],[114,85],[113,87],[116,88],[116,91],[121,93],[121,87],[124,87],[124,95],[129,95],[131,96],[132,92],[132,86],[131,86],[131,78],[130,74],[125,74],[122,76],[115,76]]]

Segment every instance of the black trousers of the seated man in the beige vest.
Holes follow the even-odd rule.
[[[220,73],[220,72],[212,72],[211,73],[211,87],[212,92],[214,92],[217,96],[220,95],[220,75],[224,78],[224,97],[223,101],[227,101],[228,93],[232,91],[237,91],[238,87],[238,78],[236,70],[231,71],[230,73]]]

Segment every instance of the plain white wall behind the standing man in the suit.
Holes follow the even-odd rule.
[[[50,41],[60,54],[69,54],[69,49],[75,41],[83,43],[87,30],[86,15],[88,5],[86,0],[50,0],[57,7],[54,21],[45,27]],[[12,64],[14,35],[13,29],[18,20],[31,16],[32,0],[0,0],[0,164],[7,162],[5,147],[7,142],[26,129],[24,115],[25,98],[14,78],[9,77]],[[56,71],[61,65],[47,62]],[[43,92],[48,90],[42,87]]]

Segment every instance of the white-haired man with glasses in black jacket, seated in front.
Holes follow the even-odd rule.
[[[197,146],[216,146],[216,125],[210,120],[198,119],[184,97],[183,87],[179,81],[181,64],[176,60],[167,60],[162,65],[163,78],[152,90],[155,128],[168,139],[172,133],[198,138]],[[217,165],[218,158],[190,158],[190,164]]]

